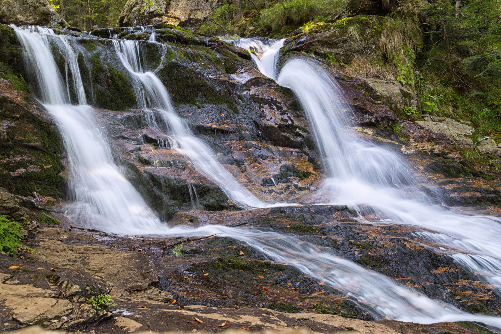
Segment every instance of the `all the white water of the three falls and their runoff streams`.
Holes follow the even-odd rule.
[[[167,227],[114,163],[105,136],[97,129],[93,109],[85,105],[85,92],[80,76],[76,73],[80,70],[75,62],[77,58],[70,38],[56,36],[48,29],[15,30],[25,49],[25,66],[33,73],[34,78],[30,79],[32,87],[35,87],[34,95],[55,117],[62,133],[76,196],[72,217],[78,219],[80,224],[86,224],[86,220],[89,220],[89,224],[97,224],[100,229],[119,234],[199,236],[225,233],[226,237],[246,242],[274,260],[294,265],[305,274],[351,295],[360,307],[370,311],[375,318],[422,323],[470,320],[501,328],[499,318],[468,314],[444,302],[429,299],[382,274],[336,256],[330,248],[302,242],[297,237],[254,228],[219,225],[206,225],[197,229]],[[261,206],[255,202],[252,194],[211,158],[208,148],[191,134],[175,114],[169,94],[156,75],[152,72],[143,73],[140,63],[133,59],[138,42],[114,43],[117,57],[135,78],[133,85],[137,100],[143,108],[155,109],[162,114],[166,129],[164,135],[171,139],[173,148],[189,157],[198,169],[203,169],[200,171],[206,173],[208,178],[219,180],[221,188],[226,187],[225,192],[236,200],[249,206]],[[66,68],[72,74],[79,105],[70,104],[69,86],[64,85],[63,76],[51,52],[51,44],[59,50],[66,50]],[[275,66],[278,50],[274,51],[270,59]],[[263,59],[264,56],[260,61]],[[265,68],[269,68],[269,64]],[[270,73],[275,75],[276,72]],[[67,73],[65,76],[68,77]],[[298,76],[301,80],[298,80]],[[358,140],[346,128],[349,124],[337,105],[340,99],[338,90],[326,72],[308,61],[292,60],[281,70],[278,82],[296,93],[315,128],[315,136],[331,171],[324,189],[331,191],[333,203],[353,206],[368,204],[395,221],[429,226],[438,232],[429,233],[430,237],[442,238],[442,243],[454,244],[455,248],[462,247],[471,253],[456,256],[456,260],[462,260],[464,265],[467,260],[461,259],[461,256],[471,261],[478,262],[480,258],[485,258],[490,263],[497,263],[495,261],[501,254],[499,246],[494,244],[496,236],[501,236],[498,222],[487,217],[469,217],[434,207],[431,202],[426,202],[424,195],[403,194],[399,188],[411,187],[417,182],[405,172],[407,167],[397,156]],[[157,124],[151,125],[162,131],[162,127]],[[371,165],[368,166],[367,161]],[[474,226],[474,230],[471,226]],[[499,277],[490,267],[484,266],[484,269],[492,276]]]

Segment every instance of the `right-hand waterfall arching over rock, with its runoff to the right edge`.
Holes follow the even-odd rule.
[[[235,45],[252,46],[248,40]],[[274,45],[273,43],[270,43]],[[264,50],[264,49],[263,49]],[[265,57],[276,66],[277,58]],[[273,54],[276,54],[273,50]],[[274,78],[274,77],[271,77]],[[274,78],[275,79],[275,78]],[[498,290],[501,287],[501,220],[497,217],[468,215],[436,205],[417,189],[418,181],[406,162],[395,153],[368,143],[350,129],[351,110],[346,111],[342,94],[332,77],[314,61],[289,60],[277,79],[291,88],[308,115],[321,155],[328,167],[323,190],[331,204],[350,205],[364,210],[369,205],[385,221],[422,227],[421,237],[456,250],[452,258],[469,271],[483,275]],[[367,221],[365,218],[360,220]],[[431,232],[433,231],[433,232]],[[442,248],[443,249],[443,248]],[[438,250],[438,249],[437,249]]]

